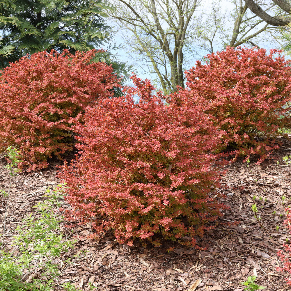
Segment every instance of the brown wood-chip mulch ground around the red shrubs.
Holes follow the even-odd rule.
[[[74,228],[74,236],[78,239],[74,249],[64,252],[55,261],[62,274],[57,285],[71,281],[77,288],[89,290],[91,282],[100,291],[239,291],[244,289],[239,283],[255,274],[258,275],[256,282],[267,287],[267,291],[291,290],[284,281],[287,274],[276,271],[276,267],[282,266],[277,250],[282,249],[286,238],[291,237],[282,227],[284,208],[289,205],[291,197],[291,165],[286,165],[282,157],[291,153],[291,142],[284,138],[280,140],[283,145],[262,164],[256,165],[253,159],[249,168],[242,160],[228,166],[218,191],[226,195],[221,201],[229,209],[223,211],[220,225],[215,230],[203,239],[197,238],[205,251],[185,249],[179,245],[175,245],[176,249],[171,253],[163,247],[129,247],[118,244],[110,234],[101,240],[88,240],[86,236],[91,233],[91,225],[78,226]],[[10,240],[17,224],[26,214],[35,215],[33,206],[44,199],[45,187],[59,182],[57,164],[51,163],[44,171],[24,171],[13,178],[4,240],[7,250],[11,249]],[[5,160],[2,159],[0,189],[9,187],[9,176],[4,166]],[[261,225],[251,210],[254,195],[257,196],[255,201]],[[284,205],[282,196],[287,200]],[[0,199],[1,233],[6,198]],[[221,222],[230,224],[223,225]],[[233,226],[233,222],[237,225]],[[65,223],[61,230],[70,233]],[[73,259],[73,265],[62,263],[79,251],[82,254]]]

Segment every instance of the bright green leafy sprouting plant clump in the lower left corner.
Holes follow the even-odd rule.
[[[9,147],[6,157],[10,163],[6,166],[11,179],[20,171],[18,163],[20,151]],[[54,281],[61,274],[60,269],[65,269],[71,265],[71,258],[62,259],[63,253],[68,252],[74,244],[74,240],[65,238],[63,233],[59,233],[59,223],[62,216],[54,212],[63,204],[61,199],[65,190],[65,184],[59,184],[53,190],[46,189],[47,197],[43,202],[39,202],[35,207],[38,209],[38,216],[27,215],[17,226],[17,235],[10,242],[11,249],[6,251],[3,246],[5,236],[4,218],[3,239],[0,249],[0,290],[9,291],[50,291],[55,285]],[[5,191],[1,191],[4,194]],[[5,192],[6,193],[6,192]],[[8,201],[7,201],[8,205]],[[56,263],[59,260],[60,263]],[[74,285],[70,282],[62,285],[63,290],[75,291]]]

